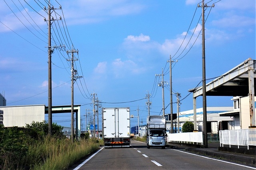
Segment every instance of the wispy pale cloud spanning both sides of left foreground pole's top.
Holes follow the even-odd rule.
[[[25,2],[21,3],[25,7],[26,11],[19,3],[16,3],[17,7],[19,8],[18,10],[13,3],[7,2],[8,6],[10,6],[17,17],[5,3],[0,5],[0,9],[5,9],[0,11],[0,21],[6,25],[5,26],[2,23],[0,24],[1,32],[10,31],[10,29],[13,31],[22,29],[25,28],[24,25],[26,25],[28,28],[32,28],[30,23],[32,23],[32,25],[36,28],[36,24],[46,25],[44,17],[47,19],[47,13],[42,10],[38,4],[33,1],[28,2],[28,4],[30,4],[34,10],[36,10],[36,12],[34,12],[34,10],[32,10],[28,4]],[[52,5],[54,7],[59,6],[59,4],[56,2],[53,2]],[[72,0],[72,3],[70,3],[70,0],[62,0],[61,6],[64,13],[64,17],[62,16],[62,19],[65,18],[65,23],[67,25],[97,23],[108,20],[112,16],[137,14],[146,8],[145,5],[142,5],[139,2],[130,2],[129,0]],[[43,17],[37,14],[37,12]],[[61,10],[56,10],[56,12],[58,15],[62,14]],[[22,14],[30,21],[30,23],[28,23]],[[33,18],[36,24],[31,20],[30,17]],[[53,17],[56,18],[54,15]],[[21,22],[24,23],[24,25]],[[8,29],[8,27],[10,29]]]

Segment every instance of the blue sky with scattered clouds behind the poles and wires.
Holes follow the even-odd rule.
[[[206,79],[220,76],[248,58],[255,59],[255,0],[205,1]],[[4,0],[0,3],[0,87],[8,106],[48,106],[47,0]],[[78,49],[75,68],[82,76],[74,84],[74,104],[81,114],[92,109],[96,93],[102,107],[130,107],[146,123],[146,94],[151,114],[162,114],[162,74],[165,107],[172,89],[181,94],[181,111],[193,109],[188,90],[202,80],[202,8],[200,0],[51,0],[52,106],[71,104],[70,62],[65,51]],[[26,17],[26,18],[25,18]],[[159,79],[160,78],[160,79]],[[206,82],[206,83],[207,83]],[[199,84],[202,86],[202,83]],[[186,97],[186,98],[185,98]],[[232,106],[232,97],[207,97],[207,106]],[[136,101],[138,100],[138,101]],[[136,101],[136,102],[131,102]],[[176,96],[173,96],[176,102]],[[113,104],[116,103],[116,104]],[[197,98],[202,107],[202,98]],[[176,104],[173,104],[176,113]],[[170,106],[165,110],[170,113]],[[46,117],[46,119],[48,119]],[[53,122],[70,126],[70,114],[53,115]],[[82,117],[84,119],[84,117]],[[131,126],[137,120],[131,121]],[[84,124],[84,123],[83,123]]]

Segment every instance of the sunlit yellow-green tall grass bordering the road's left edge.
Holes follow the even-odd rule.
[[[99,143],[94,139],[82,139],[72,143],[69,139],[48,138],[41,145],[33,146],[29,150],[30,158],[38,155],[34,170],[64,170],[98,147]]]

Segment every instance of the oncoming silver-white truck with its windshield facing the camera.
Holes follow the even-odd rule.
[[[147,148],[165,148],[166,122],[164,116],[152,115],[147,118]]]

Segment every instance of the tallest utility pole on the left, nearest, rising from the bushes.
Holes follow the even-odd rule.
[[[51,17],[51,10],[57,10],[60,8],[53,8],[50,6],[50,0],[48,1],[48,9],[44,7],[44,10],[47,10],[48,20],[44,18],[44,21],[48,23],[48,135],[52,135],[52,46],[51,46],[51,25],[52,21],[55,21],[53,17]],[[61,17],[60,17],[61,20]],[[60,46],[61,47],[61,46]]]

